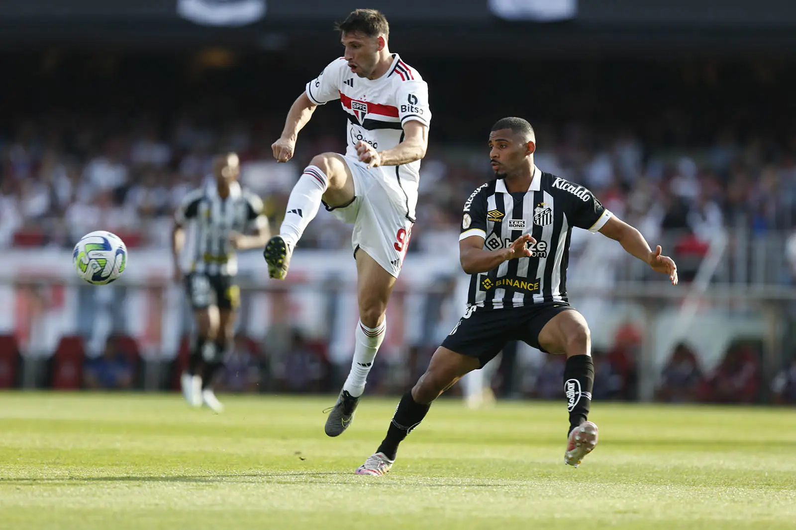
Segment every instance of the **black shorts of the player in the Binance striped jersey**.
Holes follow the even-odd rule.
[[[539,333],[544,324],[570,309],[575,308],[566,302],[505,309],[470,308],[451,335],[443,340],[442,346],[458,354],[477,357],[481,366],[494,359],[511,340],[521,340],[545,351],[539,346]]]

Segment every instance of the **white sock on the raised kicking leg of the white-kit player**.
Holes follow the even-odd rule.
[[[279,228],[279,235],[290,246],[295,246],[304,234],[304,229],[318,215],[321,197],[329,187],[329,179],[317,165],[308,165],[287,199],[285,219]]]

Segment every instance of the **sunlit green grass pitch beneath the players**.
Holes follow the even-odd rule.
[[[564,402],[439,400],[385,477],[353,470],[397,398],[338,439],[334,397],[0,393],[0,528],[796,528],[792,408],[592,405],[564,465]]]

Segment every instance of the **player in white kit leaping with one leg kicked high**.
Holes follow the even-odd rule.
[[[351,424],[384,340],[384,312],[415,222],[420,159],[426,154],[431,121],[428,87],[414,68],[389,51],[383,14],[355,10],[338,29],[345,55],[306,84],[272,148],[277,161],[289,161],[298,131],[318,105],[334,100],[348,117],[348,148],[345,155],[322,153],[310,161],[291,191],[279,235],[263,250],[269,275],[283,279],[321,203],[354,226],[360,321],[349,376],[326,420],[330,436]]]

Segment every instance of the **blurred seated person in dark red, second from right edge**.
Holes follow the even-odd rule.
[[[760,362],[749,346],[730,346],[724,359],[700,389],[711,403],[755,403],[760,388]]]

